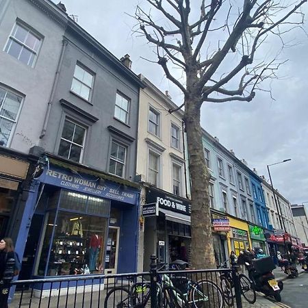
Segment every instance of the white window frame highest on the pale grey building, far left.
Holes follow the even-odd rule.
[[[35,36],[39,40],[39,46],[38,46],[37,50],[32,49],[31,47],[27,46],[27,44],[25,44],[25,42],[21,42],[21,40],[18,40],[18,38],[14,37],[13,34],[14,34],[14,31],[15,31],[16,27],[21,27],[21,28],[25,29],[25,31],[27,31],[27,35],[30,33],[30,34],[32,34],[33,36]],[[42,36],[39,35],[38,33],[36,33],[36,31],[32,31],[31,29],[29,29],[29,27],[27,25],[24,25],[23,23],[16,21],[16,23],[14,24],[14,27],[13,27],[11,33],[10,33],[10,36],[8,37],[8,40],[7,40],[7,42],[6,42],[5,46],[4,46],[4,49],[3,49],[3,51],[5,53],[8,53],[8,55],[11,55],[8,52],[10,47],[11,47],[11,44],[12,44],[12,42],[10,43],[10,39],[12,41],[16,42],[17,44],[21,45],[21,51],[23,51],[23,49],[27,49],[32,54],[34,54],[34,60],[33,60],[31,65],[29,65],[29,60],[28,60],[27,64],[20,60],[21,51],[19,52],[18,57],[17,58],[15,57],[16,60],[21,61],[23,64],[25,64],[25,65],[27,65],[27,66],[29,66],[31,68],[34,68],[34,66],[36,65],[36,61],[38,59],[38,54],[40,53],[40,48],[42,47],[42,40],[43,40]],[[25,40],[27,40],[27,36],[26,36]],[[10,46],[8,46],[8,44],[10,44]],[[14,57],[14,55],[11,55],[11,56]]]

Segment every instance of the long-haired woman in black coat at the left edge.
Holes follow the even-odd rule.
[[[10,238],[0,241],[0,307],[8,307],[10,282],[14,277],[14,246]]]

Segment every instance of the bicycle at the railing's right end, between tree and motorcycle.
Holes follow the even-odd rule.
[[[220,268],[227,268],[227,261],[224,261]],[[257,295],[255,293],[253,282],[245,274],[238,274],[238,266],[235,266],[235,271],[238,275],[238,280],[240,281],[240,290],[242,296],[244,296],[248,303],[255,303],[257,300]],[[235,292],[233,292],[234,281],[231,272],[223,272],[220,274],[220,287],[224,297],[224,302],[228,306],[233,306]]]

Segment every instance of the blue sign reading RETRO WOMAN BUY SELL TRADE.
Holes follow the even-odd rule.
[[[134,190],[124,189],[124,185],[105,181],[103,184],[99,183],[97,179],[91,179],[86,175],[75,175],[69,170],[56,168],[50,166],[46,172],[40,177],[40,181],[66,188],[67,190],[74,190],[75,192],[83,192],[92,194],[101,198],[108,198],[129,204],[136,204],[138,193]]]

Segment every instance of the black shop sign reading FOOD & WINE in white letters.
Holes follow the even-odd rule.
[[[154,188],[149,189],[146,192],[146,203],[157,203],[157,207],[162,209],[168,209],[169,211],[175,211],[184,215],[190,215],[191,205],[183,199],[175,196],[174,194],[168,194]]]

